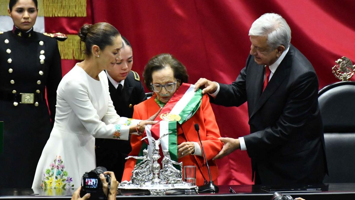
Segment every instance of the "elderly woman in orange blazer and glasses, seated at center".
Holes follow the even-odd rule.
[[[143,78],[147,88],[154,91],[154,95],[150,99],[134,106],[134,119],[147,119],[149,116],[155,114],[160,107],[163,107],[163,112],[165,104],[168,103],[167,105],[171,105],[171,101],[174,101],[171,97],[175,97],[179,93],[177,92],[174,95],[176,90],[178,90],[183,83],[185,84],[184,86],[189,85],[186,84],[189,76],[187,75],[185,66],[170,54],[159,54],[151,58],[144,68]],[[183,89],[182,86],[181,89]],[[194,125],[197,123],[200,126],[200,137],[211,170],[211,178],[214,183],[217,183],[219,172],[217,164],[212,158],[217,155],[223,147],[222,142],[218,140],[220,137],[219,129],[211,104],[209,103],[209,98],[207,95],[203,95],[202,98],[201,96],[200,105],[196,105],[194,113],[191,112],[186,118],[187,121],[181,123],[181,125],[176,123],[177,144],[175,144],[177,146],[176,156],[178,159],[176,161],[183,162],[184,166],[196,166],[196,185],[198,186],[203,185],[205,180],[209,181],[209,177],[201,144],[198,140]],[[168,102],[170,99],[171,101]],[[189,104],[191,102],[192,101],[189,101]],[[129,154],[130,156],[138,156],[142,145],[144,145],[144,141],[141,141],[144,135],[131,136],[132,151]],[[170,153],[170,157],[173,158],[174,156]],[[135,164],[136,159],[130,158],[127,160],[122,181],[130,180]]]

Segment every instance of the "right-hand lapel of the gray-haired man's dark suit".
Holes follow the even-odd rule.
[[[264,105],[264,103],[269,99],[269,97],[279,88],[284,79],[289,76],[288,71],[290,70],[290,51],[286,54],[285,58],[282,60],[280,65],[277,67],[275,73],[272,75],[269,83],[267,84],[264,92],[261,93],[260,98],[255,102],[255,107],[253,109],[250,118]],[[263,81],[262,81],[263,82]],[[261,84],[262,85],[262,84]],[[262,87],[262,86],[261,86]],[[262,91],[262,89],[260,90]]]

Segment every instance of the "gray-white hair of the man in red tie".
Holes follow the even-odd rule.
[[[249,36],[264,36],[272,49],[280,45],[287,49],[290,46],[291,29],[281,15],[266,13],[253,22]]]

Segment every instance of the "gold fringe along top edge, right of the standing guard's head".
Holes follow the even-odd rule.
[[[86,17],[86,0],[43,0],[45,17]]]

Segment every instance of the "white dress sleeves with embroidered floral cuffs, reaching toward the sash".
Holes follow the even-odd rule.
[[[116,114],[111,99],[109,99],[109,107],[103,117],[104,119],[101,121],[89,99],[88,89],[84,83],[75,80],[68,81],[65,83],[63,90],[62,98],[69,104],[93,137],[128,140],[130,126],[125,123],[127,118],[123,119],[124,117]]]

